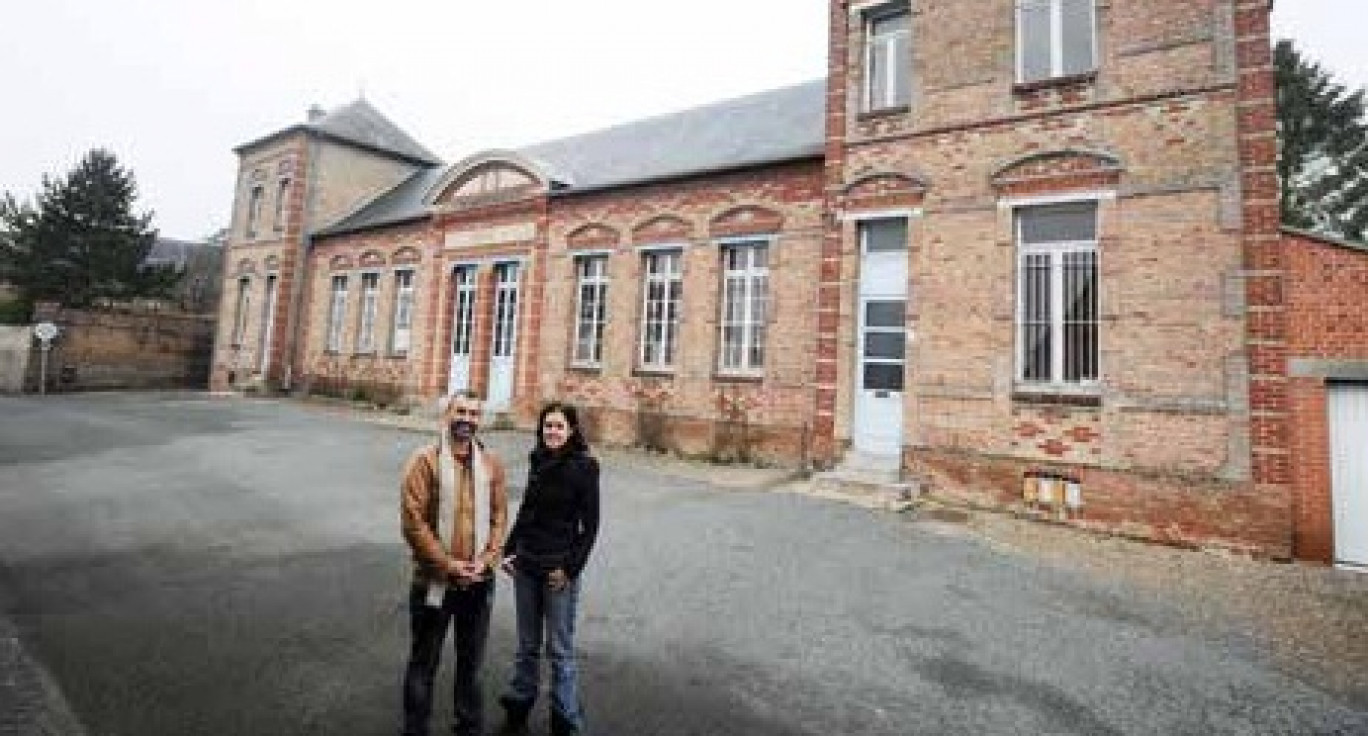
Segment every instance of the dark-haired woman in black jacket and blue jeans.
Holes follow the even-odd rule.
[[[517,601],[517,657],[499,703],[506,733],[521,733],[536,702],[542,642],[551,659],[551,733],[584,733],[575,662],[580,572],[599,524],[599,466],[575,408],[553,402],[538,417],[527,490],[503,546]],[[546,636],[543,636],[543,631]]]

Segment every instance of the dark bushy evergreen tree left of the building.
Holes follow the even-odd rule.
[[[26,305],[159,298],[181,274],[144,265],[156,242],[152,213],[134,215],[137,183],[112,153],[94,149],[66,176],[42,178],[33,204],[0,198],[0,278]]]

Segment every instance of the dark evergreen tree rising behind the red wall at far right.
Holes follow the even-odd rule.
[[[1368,118],[1364,90],[1349,92],[1291,41],[1274,51],[1282,152],[1283,223],[1368,239]]]

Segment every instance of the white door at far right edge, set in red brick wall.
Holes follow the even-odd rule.
[[[1328,410],[1335,561],[1368,568],[1368,384],[1331,384]]]

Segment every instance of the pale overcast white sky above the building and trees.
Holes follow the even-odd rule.
[[[1278,0],[1293,37],[1368,85],[1364,0]],[[42,0],[0,22],[0,190],[94,146],[140,211],[198,239],[228,219],[238,144],[363,94],[454,161],[822,77],[818,0]]]

